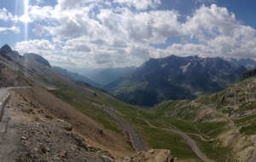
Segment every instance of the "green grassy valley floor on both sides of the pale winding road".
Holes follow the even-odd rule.
[[[73,105],[79,112],[90,116],[104,128],[122,134],[122,130],[116,121],[103,113],[102,109],[97,105],[112,107],[119,118],[125,120],[131,127],[141,136],[146,149],[149,148],[166,148],[171,149],[172,153],[178,159],[189,159],[200,161],[197,155],[189,147],[187,142],[177,133],[163,130],[174,129],[181,130],[192,137],[201,151],[207,153],[210,159],[230,159],[231,152],[228,148],[221,148],[218,142],[212,140],[216,138],[229,126],[227,121],[218,122],[189,122],[183,119],[166,117],[165,111],[154,111],[154,109],[136,107],[125,102],[115,99],[102,90],[77,89],[76,85],[69,87],[65,84],[58,84],[58,90],[53,91],[63,101],[67,101]],[[189,103],[189,101],[175,101],[179,104]],[[180,106],[180,105],[179,105]]]

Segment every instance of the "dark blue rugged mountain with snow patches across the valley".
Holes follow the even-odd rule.
[[[104,87],[122,101],[153,107],[166,100],[194,99],[199,94],[224,90],[246,67],[198,56],[150,59],[135,72]]]

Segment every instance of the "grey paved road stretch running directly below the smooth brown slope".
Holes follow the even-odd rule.
[[[143,148],[143,143],[141,142],[139,136],[137,136],[137,133],[128,124],[126,124],[122,119],[119,119],[119,117],[115,113],[113,113],[113,111],[110,108],[102,107],[102,110],[108,113],[108,115],[110,115],[113,119],[118,121],[119,124],[121,124],[125,128],[125,130],[131,137],[133,148],[136,149],[137,152],[145,151],[145,149]]]

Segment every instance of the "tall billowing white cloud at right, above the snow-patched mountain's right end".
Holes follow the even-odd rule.
[[[201,55],[255,58],[255,29],[242,25],[236,20],[235,14],[229,13],[225,8],[215,4],[209,8],[203,5],[195,10],[195,14],[188,17],[182,26],[184,35],[197,39],[203,44],[199,44],[201,47],[207,46],[212,49],[206,49]],[[183,49],[187,49],[187,46],[183,46]],[[196,52],[192,49],[192,52],[194,51]],[[198,53],[201,51],[203,52],[199,49]]]

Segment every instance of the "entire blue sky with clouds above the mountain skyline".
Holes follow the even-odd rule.
[[[140,66],[168,55],[256,59],[255,0],[11,0],[0,45],[59,67]]]

